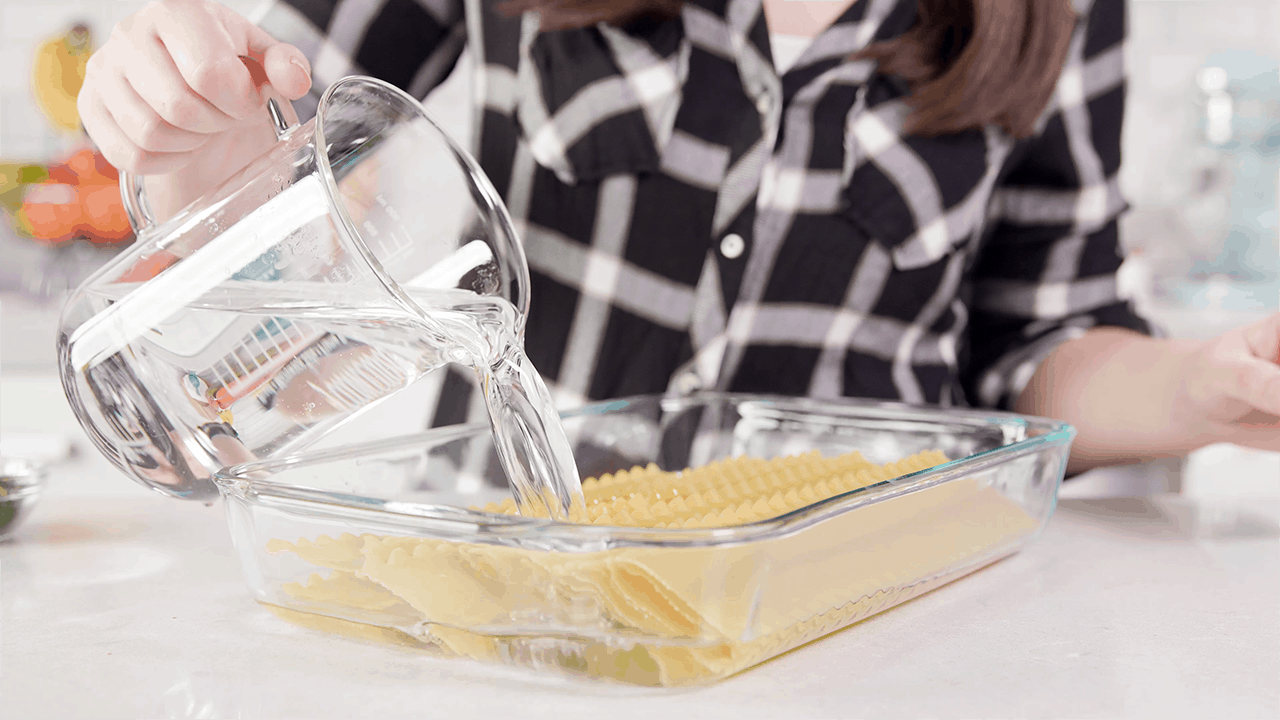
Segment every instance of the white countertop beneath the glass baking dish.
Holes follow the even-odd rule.
[[[14,387],[5,428],[49,429],[28,410],[52,391],[20,383],[18,409]],[[975,575],[719,684],[648,691],[289,624],[250,600],[220,506],[148,493],[83,450],[0,543],[0,719],[1280,715],[1280,478],[1065,497]],[[1201,465],[1201,487],[1271,473]]]

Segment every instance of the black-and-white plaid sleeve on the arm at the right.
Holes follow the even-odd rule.
[[[1116,283],[1125,19],[1123,0],[1082,13],[1041,131],[993,195],[963,378],[983,406],[1011,409],[1039,364],[1089,328],[1151,332]]]

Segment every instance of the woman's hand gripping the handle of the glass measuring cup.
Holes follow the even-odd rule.
[[[170,174],[180,187],[161,191],[189,200],[274,142],[265,82],[302,97],[311,87],[306,56],[218,3],[163,0],[115,26],[90,59],[77,102],[108,161]]]

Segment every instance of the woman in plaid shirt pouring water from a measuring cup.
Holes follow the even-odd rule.
[[[1280,450],[1280,315],[1155,340],[1117,297],[1121,0],[166,0],[79,96],[173,209],[273,142],[238,59],[314,110],[424,96],[463,45],[479,159],[562,400],[694,388],[1004,406],[1073,470]],[[314,73],[314,74],[312,74]],[[460,389],[461,388],[461,389]],[[436,421],[474,401],[445,388]]]

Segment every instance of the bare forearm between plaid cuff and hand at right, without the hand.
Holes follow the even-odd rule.
[[[1211,425],[1179,402],[1184,366],[1199,345],[1092,329],[1044,360],[1016,410],[1075,425],[1073,473],[1185,455],[1212,442]]]

